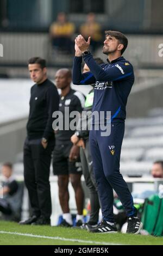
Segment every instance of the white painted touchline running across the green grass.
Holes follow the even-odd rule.
[[[69,239],[69,238],[59,237],[59,236],[33,235],[33,234],[17,233],[17,232],[9,232],[9,231],[0,231],[0,234],[22,235],[22,236],[29,236],[29,237],[37,237],[37,238],[45,238],[45,239],[53,239],[53,240],[61,240],[61,241],[71,241],[71,242],[81,242],[81,243],[96,243],[96,245],[120,245],[120,243],[105,243],[105,242],[97,242],[97,241],[89,241],[89,240]]]

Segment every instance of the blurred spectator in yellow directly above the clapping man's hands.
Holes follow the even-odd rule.
[[[80,26],[80,34],[87,40],[91,36],[91,50],[95,52],[101,45],[102,33],[101,25],[96,21],[94,13],[89,13],[86,18],[86,22]]]

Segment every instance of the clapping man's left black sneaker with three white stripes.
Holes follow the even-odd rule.
[[[97,225],[96,228],[91,229],[90,232],[92,232],[92,233],[101,233],[101,234],[117,233],[117,227],[116,227],[116,224],[110,225],[106,221],[102,221],[102,223]]]

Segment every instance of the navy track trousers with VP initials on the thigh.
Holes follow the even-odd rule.
[[[133,197],[120,173],[120,155],[124,136],[124,123],[111,123],[110,136],[101,136],[100,129],[90,131],[93,171],[101,201],[103,220],[114,222],[113,190],[121,200],[127,216],[137,216]]]

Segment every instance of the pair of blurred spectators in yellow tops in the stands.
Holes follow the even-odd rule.
[[[86,40],[91,36],[91,51],[95,52],[102,41],[102,27],[96,21],[94,13],[87,14],[85,23],[80,25],[78,31],[75,24],[68,21],[65,13],[59,13],[57,20],[49,28],[52,46],[56,50],[72,53],[77,32],[82,34]]]

